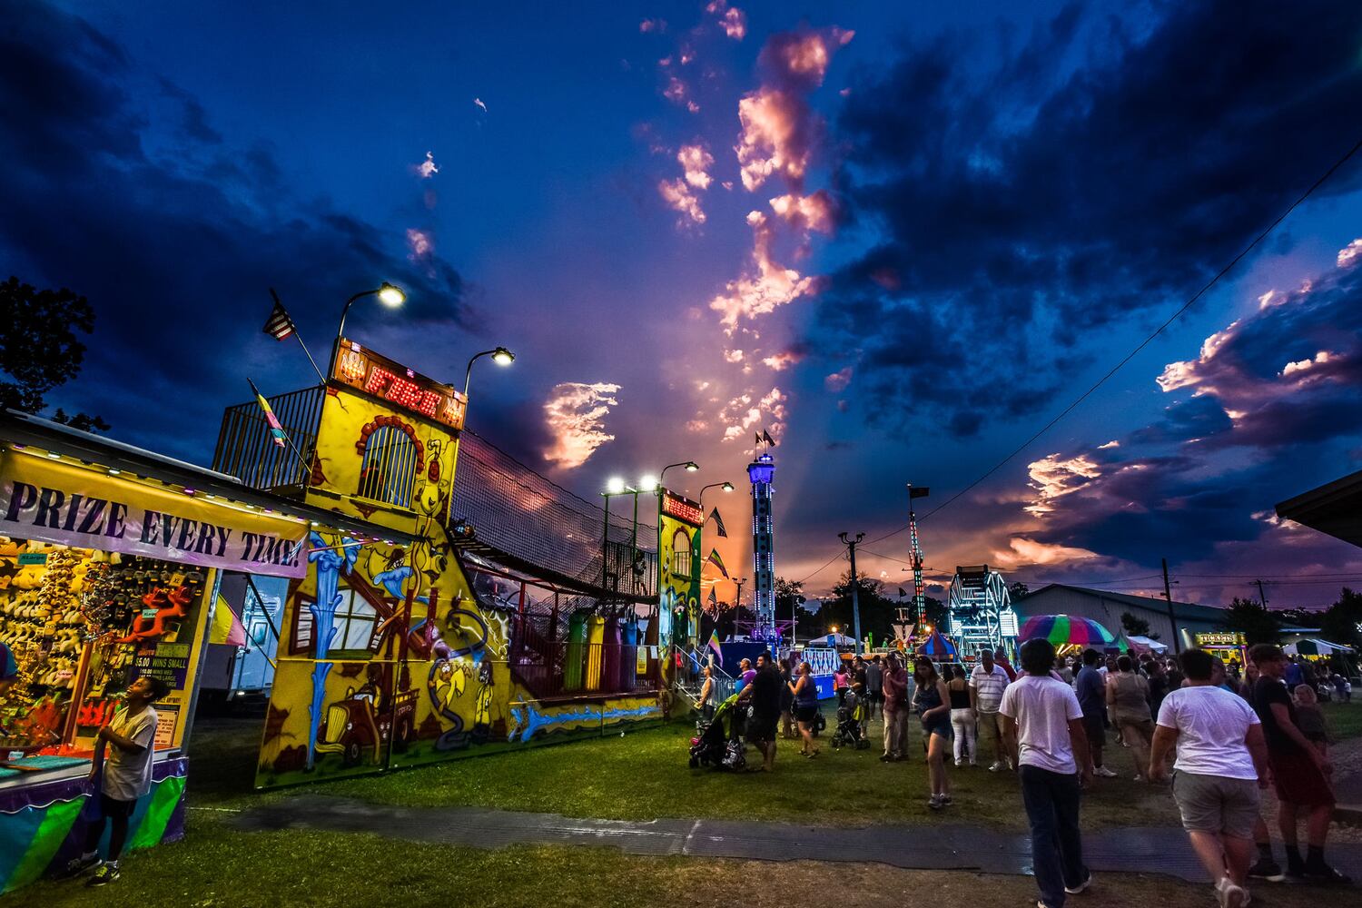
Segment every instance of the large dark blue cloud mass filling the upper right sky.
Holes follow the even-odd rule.
[[[1062,376],[1117,355],[1102,328],[1189,298],[1355,140],[1362,7],[1156,10],[1122,26],[1072,4],[1030,38],[913,39],[861,72],[836,139],[869,241],[808,339],[862,357],[868,419],[902,429],[911,410],[968,436],[985,417],[1053,411]],[[817,48],[782,56],[790,74],[825,65]],[[756,123],[783,125],[778,112]],[[775,127],[752,132],[776,146]],[[780,147],[776,163],[749,152],[745,176],[797,172],[799,143]],[[1350,166],[1317,197],[1359,181]]]

